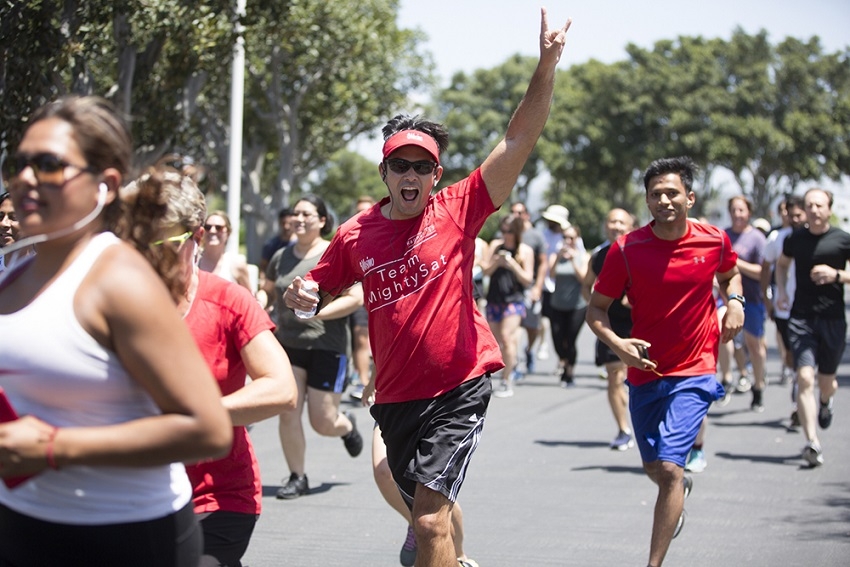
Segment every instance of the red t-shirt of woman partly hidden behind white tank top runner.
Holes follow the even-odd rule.
[[[198,278],[195,301],[185,321],[226,396],[245,386],[242,349],[262,331],[273,330],[274,324],[244,287],[202,270]],[[260,468],[244,426],[233,428],[233,446],[226,457],[187,465],[186,473],[196,514],[260,513]]]

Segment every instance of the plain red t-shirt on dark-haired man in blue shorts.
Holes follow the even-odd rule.
[[[735,267],[738,256],[719,228],[688,222],[679,240],[662,240],[651,224],[621,236],[611,246],[594,289],[632,305],[632,337],[643,339],[656,370],[665,377],[714,374],[720,327],[712,295],[715,273]],[[629,367],[629,382],[658,379]]]

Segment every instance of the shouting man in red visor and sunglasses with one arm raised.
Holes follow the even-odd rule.
[[[315,308],[321,317],[328,299],[363,284],[375,363],[371,412],[413,512],[419,565],[458,561],[451,513],[481,436],[490,374],[503,367],[473,297],[475,238],[510,197],[543,131],[569,26],[549,29],[541,11],[540,60],[526,94],[504,139],[465,179],[432,194],[448,133],[418,116],[392,118],[378,164],[389,195],[340,226],[307,274],[319,297],[301,278],[284,294],[288,308]]]

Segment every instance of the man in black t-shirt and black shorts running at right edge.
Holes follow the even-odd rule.
[[[807,226],[785,239],[776,263],[776,304],[786,308],[785,293],[791,260],[795,263],[797,290],[788,319],[788,339],[797,369],[797,413],[806,447],[803,459],[816,467],[823,464],[817,423],[826,429],[832,423],[832,398],[838,389],[835,373],[844,353],[847,320],[844,306],[844,271],[850,260],[850,234],[830,226],[832,193],[813,188],[806,192]],[[817,367],[820,407],[815,405]]]

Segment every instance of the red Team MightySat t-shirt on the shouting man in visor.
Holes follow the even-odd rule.
[[[340,226],[309,277],[331,295],[363,282],[377,403],[431,399],[504,366],[472,296],[475,237],[493,201],[479,170],[412,219],[385,218],[388,200]]]

